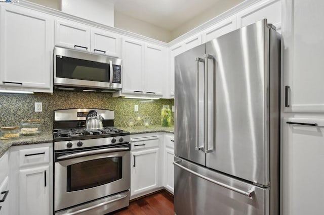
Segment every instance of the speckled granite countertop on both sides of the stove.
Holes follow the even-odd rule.
[[[168,132],[174,133],[174,127],[161,127],[159,125],[152,126],[134,126],[134,127],[117,127],[121,130],[128,131],[131,134],[143,134],[152,132]],[[35,136],[20,136],[17,139],[0,140],[0,157],[11,147],[16,145],[28,145],[37,143],[53,142],[53,132],[44,131]]]

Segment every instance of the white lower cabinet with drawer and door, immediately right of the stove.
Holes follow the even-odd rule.
[[[160,135],[146,135],[131,136],[131,199],[159,187]]]

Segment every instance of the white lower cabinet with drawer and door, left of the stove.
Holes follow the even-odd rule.
[[[52,143],[9,150],[10,215],[53,214]]]

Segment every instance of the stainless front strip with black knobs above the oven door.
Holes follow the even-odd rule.
[[[67,150],[94,146],[114,145],[120,143],[128,143],[130,141],[131,137],[129,135],[83,140],[66,140],[54,142],[54,150]]]

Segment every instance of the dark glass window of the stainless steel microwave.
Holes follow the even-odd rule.
[[[56,77],[86,81],[109,82],[109,64],[56,57]]]

